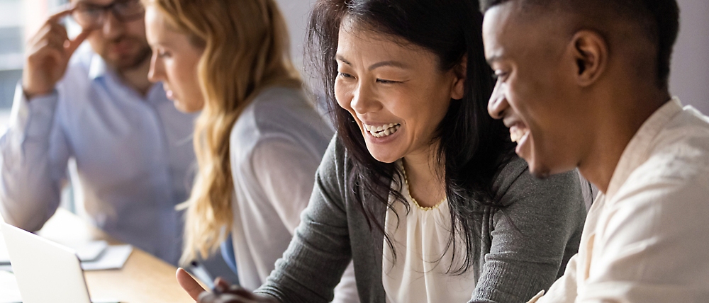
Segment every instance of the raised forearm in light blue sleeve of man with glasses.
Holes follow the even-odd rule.
[[[18,86],[11,125],[0,137],[0,213],[35,231],[59,206],[69,149],[55,121],[57,93],[28,101]]]

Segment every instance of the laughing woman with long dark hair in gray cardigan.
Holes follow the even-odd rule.
[[[350,261],[362,302],[525,302],[551,285],[579,245],[579,179],[532,178],[487,115],[482,20],[470,0],[318,1],[308,45],[337,136],[258,295],[200,302],[328,302]]]

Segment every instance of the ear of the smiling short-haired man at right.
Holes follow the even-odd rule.
[[[590,86],[608,65],[608,43],[592,30],[581,30],[571,39],[571,52],[576,60],[576,81]]]

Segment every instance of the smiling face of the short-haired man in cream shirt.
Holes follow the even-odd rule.
[[[517,5],[485,14],[485,55],[498,76],[488,110],[510,127],[517,154],[543,178],[575,168],[588,152],[592,103],[576,84],[579,65],[562,21],[531,20]]]

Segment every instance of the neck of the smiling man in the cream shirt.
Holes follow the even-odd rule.
[[[650,85],[636,89],[615,91],[596,100],[605,100],[596,115],[591,149],[585,159],[579,161],[579,171],[598,190],[606,193],[615,167],[623,156],[625,147],[640,130],[642,124],[666,101],[669,93]],[[616,86],[623,87],[623,86]]]

